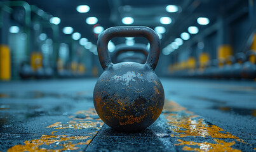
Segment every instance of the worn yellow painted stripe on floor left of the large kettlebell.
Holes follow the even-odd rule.
[[[32,139],[31,141],[25,141],[24,144],[18,144],[8,149],[8,152],[13,151],[72,151],[81,149],[79,145],[90,144],[93,137],[97,134],[100,127],[102,127],[103,122],[101,120],[96,120],[93,122],[91,116],[97,115],[96,111],[93,108],[85,111],[77,111],[75,114],[83,114],[86,117],[84,119],[75,118],[71,116],[72,120],[64,124],[63,122],[55,122],[54,124],[49,125],[46,128],[54,128],[56,131],[52,131],[51,135],[42,135],[40,139]],[[90,130],[86,132],[89,136],[67,136],[63,130],[58,129],[97,129]],[[62,133],[64,135],[54,135],[56,133]],[[83,151],[83,149],[81,149]]]

